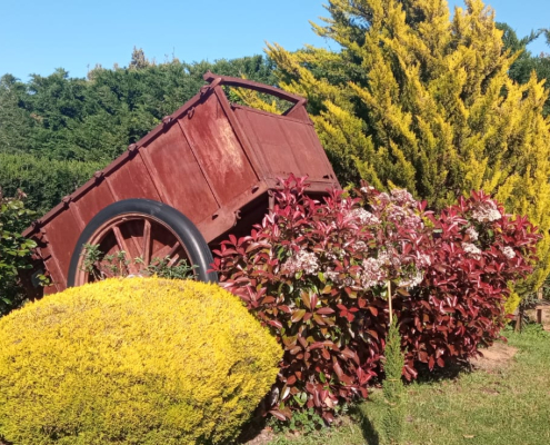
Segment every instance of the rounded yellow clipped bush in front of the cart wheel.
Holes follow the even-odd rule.
[[[0,437],[217,444],[274,383],[276,339],[217,285],[109,279],[0,319]]]

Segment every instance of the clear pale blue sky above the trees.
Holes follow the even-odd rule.
[[[261,53],[264,41],[289,50],[330,46],[308,20],[326,16],[324,0],[0,0],[0,76],[50,75],[56,68],[83,77],[101,63],[127,66],[134,46],[149,59],[184,61]],[[550,0],[488,0],[497,20],[520,36],[550,28]],[[463,4],[450,0],[451,7]],[[333,43],[332,43],[333,46]],[[533,52],[547,51],[543,39]]]

